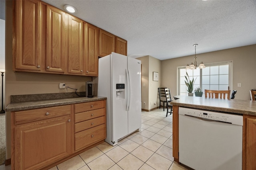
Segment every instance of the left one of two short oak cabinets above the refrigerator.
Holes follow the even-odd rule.
[[[100,29],[100,57],[115,52],[115,35]]]

